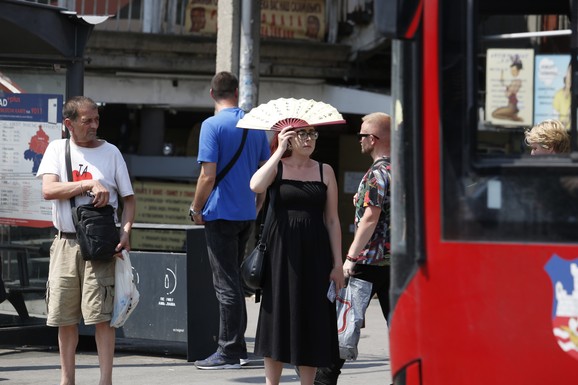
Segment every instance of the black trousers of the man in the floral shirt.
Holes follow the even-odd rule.
[[[374,295],[377,295],[383,318],[387,321],[389,316],[389,266],[356,265],[355,278],[363,279],[364,281],[369,281],[373,284],[371,289],[371,298],[373,298]],[[331,366],[326,368],[317,368],[314,382],[315,385],[336,385],[344,363],[345,360],[337,357]]]

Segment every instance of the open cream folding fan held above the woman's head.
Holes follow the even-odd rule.
[[[307,99],[274,99],[261,104],[239,120],[237,127],[281,131],[285,127],[343,124],[345,120],[330,104]]]

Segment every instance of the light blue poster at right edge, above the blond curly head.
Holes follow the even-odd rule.
[[[570,55],[536,55],[534,124],[558,119],[570,129]]]

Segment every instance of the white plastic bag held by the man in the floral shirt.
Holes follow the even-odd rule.
[[[347,286],[337,295],[337,337],[339,355],[344,360],[357,359],[357,343],[365,310],[371,299],[372,286],[371,282],[350,277]]]

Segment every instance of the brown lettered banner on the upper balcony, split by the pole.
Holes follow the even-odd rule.
[[[261,0],[261,36],[323,40],[325,0]],[[189,33],[217,33],[217,0],[189,0],[185,29]]]

